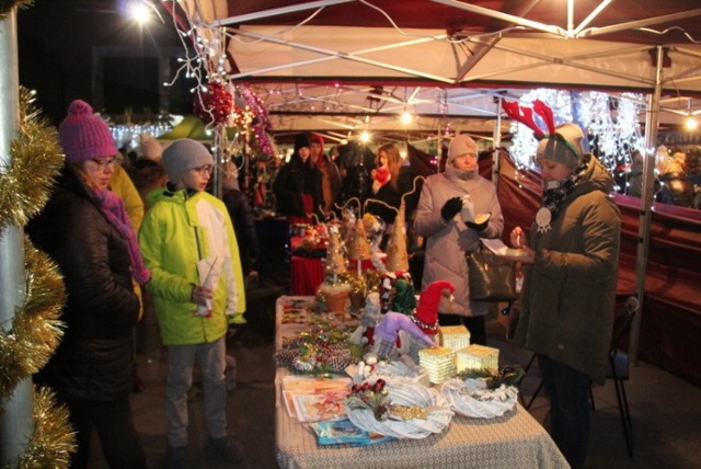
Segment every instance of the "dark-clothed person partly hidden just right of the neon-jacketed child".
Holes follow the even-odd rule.
[[[246,279],[257,277],[255,272],[255,262],[261,256],[258,249],[258,238],[255,232],[255,221],[253,218],[253,209],[249,204],[245,194],[239,191],[239,169],[235,163],[228,161],[223,165],[223,178],[221,183],[223,186],[222,202],[229,210],[233,230],[239,243],[239,255],[241,258],[241,268]]]

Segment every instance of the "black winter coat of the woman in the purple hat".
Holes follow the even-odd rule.
[[[26,226],[58,264],[68,298],[64,339],[35,381],[62,399],[112,401],[134,384],[134,294],[127,247],[67,164],[46,207]]]

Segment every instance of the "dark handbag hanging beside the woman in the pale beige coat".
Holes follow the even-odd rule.
[[[470,268],[470,299],[513,301],[516,299],[516,263],[491,251],[466,254]]]

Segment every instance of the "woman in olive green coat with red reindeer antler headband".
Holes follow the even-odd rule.
[[[543,206],[528,241],[520,227],[509,234],[526,251],[515,339],[537,354],[550,434],[573,468],[586,458],[591,381],[606,380],[621,230],[613,178],[583,139],[579,126],[563,124],[539,142]]]

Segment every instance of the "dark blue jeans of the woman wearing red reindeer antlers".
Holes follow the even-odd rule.
[[[570,466],[581,468],[589,441],[591,378],[540,354],[538,365],[550,398],[550,436]]]

